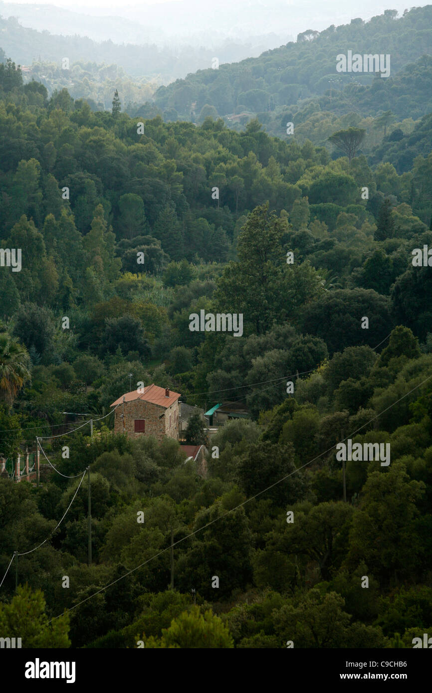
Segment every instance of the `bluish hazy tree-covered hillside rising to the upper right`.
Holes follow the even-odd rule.
[[[316,128],[341,114],[364,118],[388,109],[398,120],[417,119],[431,112],[432,6],[396,15],[386,10],[367,22],[358,18],[321,32],[305,31],[296,42],[259,58],[199,70],[160,87],[155,103],[162,110],[175,109],[181,119],[190,119],[191,110],[200,114],[205,106],[221,117],[259,114],[279,137],[287,120],[295,125],[310,120]],[[390,76],[337,73],[336,56],[347,51],[390,55]]]

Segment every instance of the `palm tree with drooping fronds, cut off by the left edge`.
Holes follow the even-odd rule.
[[[28,351],[7,332],[0,333],[0,400],[9,406],[30,378]]]

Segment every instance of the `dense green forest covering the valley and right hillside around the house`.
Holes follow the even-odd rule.
[[[191,100],[224,115],[251,105],[242,93],[281,93],[278,65],[300,51],[295,85],[327,109],[334,28],[159,90],[172,121],[123,112],[114,89],[110,111],[50,97],[4,58],[0,249],[21,248],[22,267],[0,267],[0,455],[45,438],[60,474],[0,478],[0,631],[75,648],[411,648],[432,633],[432,280],[413,264],[432,248],[431,93],[418,86],[431,11],[393,35],[392,17],[372,20],[395,68],[392,87],[361,87],[374,139],[354,94],[345,109],[349,86],[312,139],[296,137],[298,101],[293,137],[257,118],[239,132],[189,120]],[[341,29],[339,49],[368,26]],[[202,309],[242,313],[243,337],[191,332]],[[174,439],[114,435],[110,405],[130,381],[200,407],[241,402],[248,418],[211,438],[202,477]],[[64,412],[105,418],[93,437],[49,439]],[[347,436],[389,443],[391,462],[348,461],[344,500]],[[29,552],[17,590],[15,551]]]

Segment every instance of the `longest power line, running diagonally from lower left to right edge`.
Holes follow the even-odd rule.
[[[402,395],[401,397],[399,397],[399,399],[397,399],[397,401],[395,401],[395,402],[393,402],[392,404],[390,404],[390,405],[389,405],[388,407],[386,407],[386,409],[384,409],[382,412],[379,412],[379,414],[376,414],[376,416],[373,416],[372,419],[370,419],[370,421],[367,421],[366,423],[363,423],[362,426],[359,426],[355,431],[353,431],[352,433],[349,433],[349,435],[347,435],[343,440],[347,440],[347,438],[356,435],[356,433],[358,433],[358,431],[360,431],[362,428],[365,428],[365,426],[368,426],[370,423],[372,423],[372,421],[374,421],[375,419],[377,419],[377,418],[378,418],[379,416],[381,416],[382,414],[385,414],[385,412],[387,412],[389,409],[391,409],[392,407],[394,407],[395,405],[397,405],[397,403],[399,403],[402,399],[404,399],[406,396],[408,396],[408,394],[411,394],[411,392],[414,392],[415,389],[417,389],[418,387],[421,387],[422,385],[424,385],[424,383],[426,383],[426,382],[427,382],[428,380],[430,380],[431,378],[432,378],[432,374],[431,374],[430,376],[428,376],[427,378],[425,378],[424,380],[422,380],[422,382],[419,383],[418,385],[415,385],[415,387],[413,387],[411,390],[409,390],[409,392],[406,392],[404,395]],[[340,441],[339,441],[339,442],[340,442]],[[239,503],[239,505],[236,505],[236,507],[234,507],[234,508],[232,508],[232,509],[230,509],[230,510],[227,510],[223,515],[221,515],[221,516],[219,516],[219,517],[217,517],[217,518],[214,518],[214,520],[211,520],[211,521],[210,521],[209,523],[207,523],[206,525],[203,525],[202,527],[199,527],[199,529],[196,529],[194,532],[191,532],[190,534],[187,534],[187,536],[184,536],[182,539],[179,539],[178,541],[175,541],[175,542],[173,543],[173,546],[182,543],[182,541],[186,541],[186,539],[189,539],[191,536],[194,536],[195,534],[198,534],[198,532],[202,532],[202,529],[205,529],[206,527],[209,527],[209,525],[213,525],[213,524],[214,524],[215,522],[217,522],[218,520],[221,520],[222,518],[226,517],[226,516],[229,515],[230,513],[234,512],[234,510],[238,510],[239,508],[243,507],[243,505],[246,505],[246,503],[250,502],[251,500],[254,500],[255,498],[257,498],[257,497],[258,497],[259,495],[261,495],[262,493],[266,493],[266,491],[269,491],[270,489],[273,489],[274,486],[277,486],[277,484],[280,484],[281,482],[285,481],[286,479],[288,479],[288,477],[291,477],[291,476],[292,476],[293,474],[295,474],[296,472],[300,471],[301,469],[304,469],[304,467],[308,466],[309,464],[312,464],[312,462],[316,462],[316,460],[317,460],[317,459],[320,459],[320,457],[322,457],[323,455],[327,455],[327,453],[331,452],[331,450],[333,450],[334,448],[336,448],[337,445],[338,445],[338,443],[335,443],[335,444],[332,445],[330,448],[328,448],[327,450],[325,450],[323,453],[320,453],[320,455],[317,455],[316,457],[313,457],[313,459],[309,459],[309,462],[305,462],[304,464],[302,464],[302,466],[297,467],[294,471],[290,472],[289,474],[286,474],[284,477],[282,477],[282,479],[279,479],[279,480],[276,481],[274,484],[270,484],[270,486],[267,486],[267,488],[266,488],[266,489],[263,489],[263,491],[259,491],[258,493],[255,493],[254,495],[252,495],[252,496],[251,496],[250,498],[248,498],[247,500],[244,500],[242,503]],[[132,570],[128,570],[128,572],[126,572],[124,575],[121,575],[121,577],[118,577],[116,580],[110,582],[110,584],[107,584],[107,585],[105,585],[105,587],[102,587],[100,590],[97,590],[97,592],[95,592],[94,594],[89,595],[89,597],[86,597],[85,599],[82,599],[81,602],[78,602],[78,604],[74,604],[74,606],[69,607],[69,609],[67,609],[67,611],[72,611],[72,609],[74,609],[74,608],[76,608],[77,606],[80,606],[81,604],[84,604],[85,602],[87,602],[88,599],[92,599],[92,597],[96,597],[96,595],[100,594],[101,592],[103,592],[103,591],[106,590],[107,588],[109,588],[109,587],[111,587],[112,585],[116,584],[116,582],[119,582],[119,580],[122,580],[123,578],[128,577],[128,575],[132,574],[132,572],[135,572],[135,570],[139,570],[139,568],[142,568],[143,565],[146,565],[146,563],[149,563],[150,561],[153,561],[153,559],[157,558],[158,556],[161,556],[162,554],[164,554],[166,551],[169,551],[169,550],[171,550],[171,545],[170,545],[170,546],[167,546],[167,547],[164,548],[164,549],[162,549],[162,551],[157,552],[157,554],[154,554],[153,556],[150,556],[150,558],[147,559],[146,561],[144,561],[144,563],[140,563],[139,565],[136,566],[136,568],[132,568]],[[53,620],[55,620],[56,618],[60,618],[60,616],[64,615],[64,613],[66,613],[66,612],[60,613],[60,614],[58,614],[58,616],[53,616],[53,618],[49,621],[49,623],[51,623],[51,622],[52,622]]]

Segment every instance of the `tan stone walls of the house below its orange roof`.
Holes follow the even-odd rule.
[[[125,402],[125,426],[124,432],[130,438],[138,438],[143,435],[152,435],[159,442],[169,436],[178,440],[178,401],[169,409],[159,407],[157,404],[136,399]],[[114,433],[123,433],[123,404],[116,408],[114,413]],[[171,427],[169,426],[169,414],[171,414]],[[145,432],[135,432],[135,419],[145,419]]]

